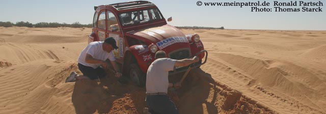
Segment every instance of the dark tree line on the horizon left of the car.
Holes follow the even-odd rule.
[[[30,22],[24,22],[24,21],[20,21],[20,22],[16,22],[16,24],[12,23],[12,22],[2,22],[0,21],[0,26],[3,27],[12,27],[12,26],[25,26],[25,27],[36,27],[36,28],[42,28],[42,27],[50,27],[50,28],[56,28],[56,27],[73,27],[73,28],[82,28],[82,27],[92,27],[92,24],[80,24],[79,22],[74,22],[72,24],[67,24],[67,23],[57,23],[57,22],[39,22],[36,24],[30,23]]]

